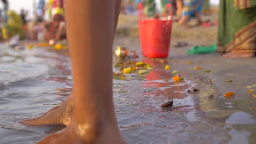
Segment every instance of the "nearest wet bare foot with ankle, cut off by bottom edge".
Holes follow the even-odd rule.
[[[62,131],[51,134],[44,140],[38,142],[43,143],[121,143],[125,142],[121,138],[119,130],[115,128],[104,128],[96,126],[95,128],[90,128],[90,125],[82,127],[79,125],[75,127],[74,124],[69,125]]]

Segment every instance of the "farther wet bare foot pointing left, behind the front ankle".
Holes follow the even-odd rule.
[[[74,109],[73,98],[74,96],[72,91],[68,99],[60,106],[54,107],[50,111],[46,112],[43,116],[21,121],[19,123],[24,125],[30,125],[30,126],[44,126],[44,125],[56,125],[56,124],[69,125],[71,121],[71,114]]]

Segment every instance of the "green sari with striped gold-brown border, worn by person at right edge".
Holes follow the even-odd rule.
[[[256,53],[256,1],[219,4],[218,52]]]

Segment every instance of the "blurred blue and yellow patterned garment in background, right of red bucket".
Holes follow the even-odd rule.
[[[202,0],[184,0],[181,15],[192,16],[195,12],[202,13]]]

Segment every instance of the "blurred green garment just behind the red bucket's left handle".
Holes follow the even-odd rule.
[[[144,13],[147,17],[152,17],[156,13],[155,0],[144,0]]]

